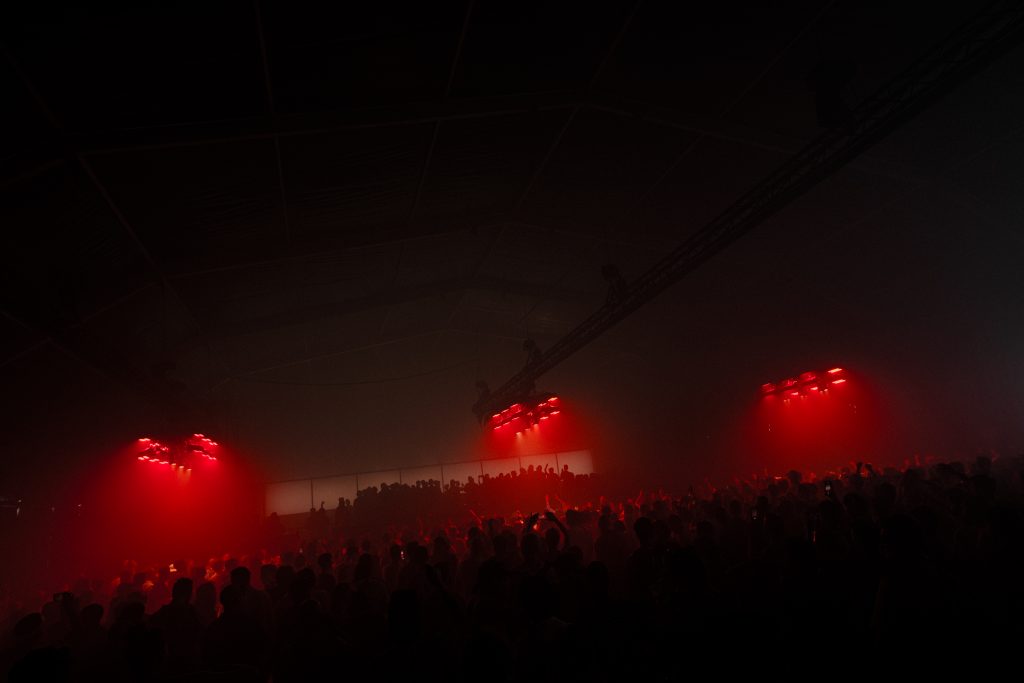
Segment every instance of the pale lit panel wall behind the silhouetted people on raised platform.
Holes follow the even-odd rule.
[[[309,512],[310,508],[318,508],[321,503],[324,503],[324,507],[329,510],[333,510],[337,507],[339,498],[347,498],[352,501],[355,500],[356,492],[371,486],[380,487],[382,484],[412,484],[416,481],[433,479],[447,485],[450,481],[466,483],[469,477],[477,479],[483,474],[496,477],[499,474],[518,472],[519,468],[532,467],[544,470],[551,468],[556,472],[561,472],[562,467],[566,465],[573,474],[592,474],[594,472],[594,459],[591,457],[590,451],[571,451],[522,456],[521,458],[473,460],[463,463],[410,467],[400,470],[278,481],[266,486],[266,514],[276,512],[279,515],[294,515]]]

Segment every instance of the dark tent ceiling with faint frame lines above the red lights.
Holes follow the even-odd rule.
[[[134,433],[180,390],[241,441],[317,454],[281,473],[444,458],[472,429],[473,380],[500,382],[522,339],[544,346],[599,306],[603,263],[642,272],[820,131],[812,74],[849,69],[836,87],[855,104],[975,9],[22,8],[0,29],[0,372],[20,397],[6,447]],[[742,391],[837,348],[906,367],[906,337],[886,335],[916,321],[933,339],[942,315],[973,331],[950,348],[998,356],[970,372],[1020,371],[977,341],[1021,339],[1020,65],[1001,59],[580,364],[618,391],[744,355],[728,384]],[[381,381],[395,378],[412,384]],[[303,383],[357,389],[283,388]],[[451,408],[424,413],[428,391]],[[395,420],[420,446],[385,433]],[[362,455],[341,453],[353,443]]]

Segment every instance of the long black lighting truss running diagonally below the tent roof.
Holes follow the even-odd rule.
[[[1024,11],[1015,3],[982,9],[856,109],[843,111],[828,130],[634,282],[612,275],[615,282],[609,282],[605,304],[488,393],[474,409],[477,418],[483,420],[527,395],[546,372],[1002,56],[1020,41],[1022,29]]]

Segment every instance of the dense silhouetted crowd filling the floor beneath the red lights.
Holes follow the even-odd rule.
[[[526,479],[569,476],[550,474]],[[480,505],[375,533],[342,512],[280,552],[79,580],[6,605],[2,666],[12,681],[621,681],[894,673],[898,657],[977,674],[1013,663],[1024,631],[1024,458],[618,501],[544,488],[519,508],[543,512]],[[349,507],[457,495],[386,487]]]

